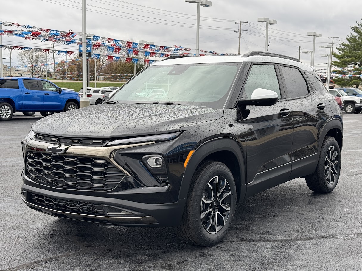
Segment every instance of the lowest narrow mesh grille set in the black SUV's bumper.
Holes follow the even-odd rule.
[[[68,199],[52,198],[34,193],[29,194],[30,196],[27,200],[38,206],[76,214],[105,216],[103,208],[98,203],[70,201]]]

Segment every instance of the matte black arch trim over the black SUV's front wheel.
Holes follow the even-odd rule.
[[[210,154],[218,151],[230,151],[236,156],[239,163],[240,171],[240,187],[236,188],[237,192],[239,192],[239,198],[237,199],[237,201],[244,199],[246,194],[246,185],[245,159],[243,154],[243,148],[241,147],[240,143],[232,137],[213,138],[206,142],[203,142],[195,149],[185,168],[184,176],[181,182],[180,193],[178,196],[179,199],[184,199],[187,197],[191,184],[191,179],[202,160]]]

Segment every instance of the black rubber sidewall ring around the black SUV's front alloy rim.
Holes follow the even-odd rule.
[[[236,187],[235,187],[235,181],[230,172],[230,169],[228,169],[226,167],[226,165],[219,163],[219,162],[214,162],[212,164],[215,164],[215,167],[213,167],[211,170],[209,170],[207,172],[207,174],[201,178],[201,180],[193,180],[193,181],[198,182],[195,185],[197,189],[194,190],[195,193],[191,193],[189,195],[189,197],[193,197],[195,200],[195,204],[193,205],[193,208],[192,208],[193,210],[191,210],[191,212],[194,214],[194,219],[195,219],[194,221],[197,226],[197,232],[199,232],[199,234],[201,235],[201,238],[203,240],[208,240],[209,242],[211,242],[212,243],[211,245],[219,243],[223,239],[223,237],[226,235],[226,233],[228,232],[228,230],[231,227],[231,223],[232,223],[233,218],[235,217],[235,210],[236,210]],[[221,165],[223,167],[223,169],[219,168],[218,165]],[[230,190],[231,190],[230,191],[231,192],[231,206],[230,206],[230,214],[228,216],[228,219],[227,219],[224,227],[218,233],[211,234],[206,231],[206,229],[204,228],[202,221],[201,221],[201,199],[202,199],[203,192],[206,188],[206,185],[211,180],[211,178],[215,177],[215,176],[222,176],[223,178],[225,178],[228,181],[228,184],[229,184]]]

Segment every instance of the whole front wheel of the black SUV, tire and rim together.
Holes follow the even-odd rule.
[[[223,191],[220,192],[220,195],[216,194],[216,199],[219,201],[212,201],[212,198],[215,199],[213,194],[216,190],[216,183],[220,185],[224,180],[226,182],[224,182]],[[221,197],[223,199],[220,200]],[[223,163],[207,161],[197,169],[192,177],[185,210],[176,230],[177,235],[184,241],[199,246],[218,244],[231,227],[235,208],[236,187],[230,169]],[[202,212],[203,210],[204,212]],[[210,221],[212,221],[211,225],[208,223]]]

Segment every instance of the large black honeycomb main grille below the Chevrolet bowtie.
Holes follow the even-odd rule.
[[[112,190],[125,176],[102,158],[40,152],[26,154],[26,173],[31,180],[42,185],[90,191]]]

